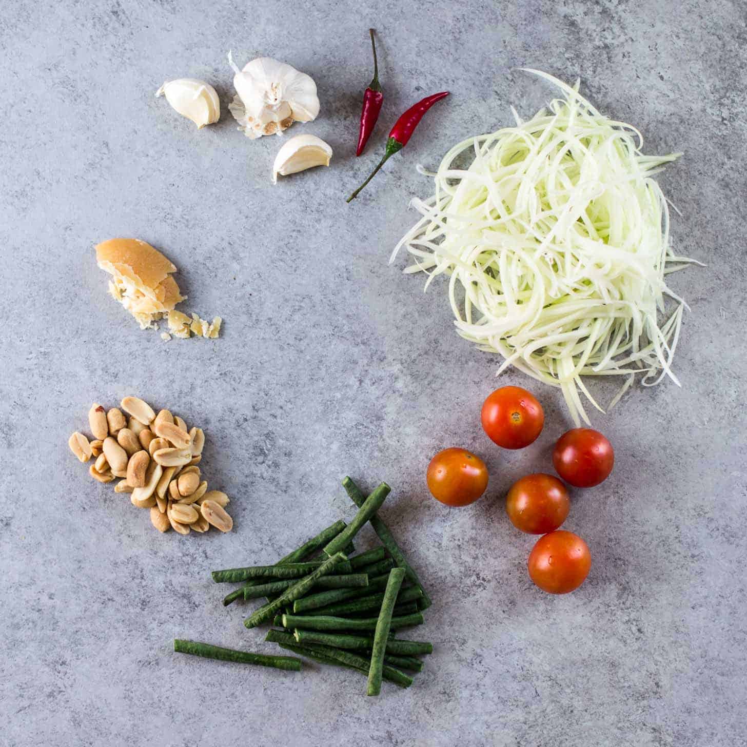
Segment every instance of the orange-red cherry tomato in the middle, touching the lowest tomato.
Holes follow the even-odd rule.
[[[527,534],[547,534],[565,521],[571,501],[568,491],[551,474],[527,474],[506,496],[506,513],[512,524]]]

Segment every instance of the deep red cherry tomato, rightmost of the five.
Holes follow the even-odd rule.
[[[553,451],[555,471],[577,488],[592,488],[607,480],[614,464],[612,444],[591,428],[574,428],[564,433]]]

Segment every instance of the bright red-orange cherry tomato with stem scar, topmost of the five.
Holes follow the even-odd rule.
[[[542,432],[545,412],[526,389],[503,386],[483,403],[483,428],[504,449],[523,449]]]

